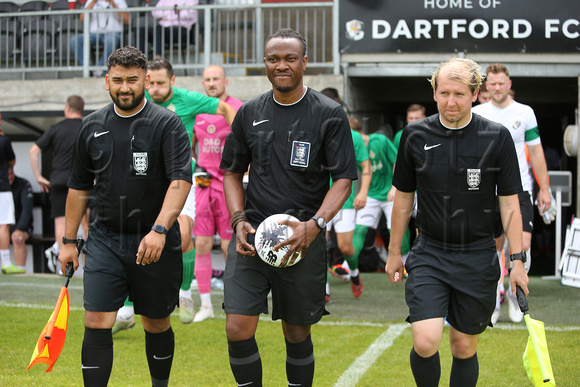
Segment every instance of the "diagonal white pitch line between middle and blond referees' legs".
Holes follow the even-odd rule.
[[[391,325],[389,329],[383,332],[375,341],[368,347],[368,349],[359,356],[348,369],[338,378],[335,387],[350,387],[356,386],[361,377],[367,372],[370,366],[382,355],[382,353],[393,345],[397,337],[409,324],[395,324]]]

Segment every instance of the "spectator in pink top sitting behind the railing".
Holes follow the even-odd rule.
[[[179,9],[188,5],[197,5],[198,0],[159,0],[155,7],[173,7],[172,10],[156,9],[152,11],[153,17],[158,20],[155,30],[142,26],[139,29],[139,48],[147,53],[146,43],[153,41],[155,33],[155,58],[164,57],[163,47],[165,44],[179,43],[185,45],[191,27],[197,22],[197,10]]]

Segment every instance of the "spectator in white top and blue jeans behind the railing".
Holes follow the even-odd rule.
[[[127,3],[125,0],[91,0],[85,4],[85,9],[125,9]],[[81,13],[81,23],[84,20],[84,13]],[[102,52],[98,65],[104,66],[107,58],[121,43],[121,33],[123,24],[129,24],[129,14],[127,12],[95,12],[91,15],[89,25],[91,47],[97,47],[98,52]],[[71,38],[71,49],[75,53],[79,64],[82,66],[84,58],[84,34],[78,34]],[[97,52],[97,55],[98,55]],[[103,75],[102,70],[93,71],[93,76],[100,77]]]

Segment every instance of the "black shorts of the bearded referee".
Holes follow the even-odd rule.
[[[157,263],[137,265],[137,249],[144,235],[120,235],[99,222],[89,229],[84,268],[84,305],[92,312],[116,312],[127,295],[135,313],[161,319],[179,301],[183,260],[177,222],[167,233]]]

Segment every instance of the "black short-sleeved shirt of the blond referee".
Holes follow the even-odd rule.
[[[396,165],[393,185],[417,190],[419,233],[444,244],[491,239],[496,187],[501,196],[522,191],[509,131],[476,114],[458,130],[439,114],[409,124]]]

